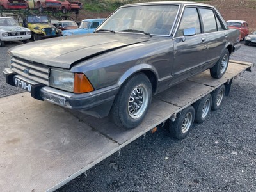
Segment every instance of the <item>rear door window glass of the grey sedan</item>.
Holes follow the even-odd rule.
[[[199,10],[204,24],[204,32],[210,33],[217,31],[216,20],[213,10],[204,8],[200,8]]]

